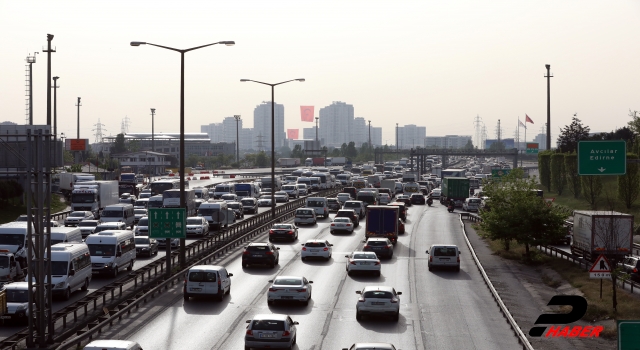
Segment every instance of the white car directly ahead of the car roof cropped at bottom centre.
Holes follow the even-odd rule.
[[[400,295],[393,287],[367,286],[356,291],[360,295],[356,303],[356,320],[365,315],[390,315],[393,321],[400,319]]]

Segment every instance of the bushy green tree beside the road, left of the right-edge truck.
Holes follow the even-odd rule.
[[[537,186],[535,177],[525,178],[522,169],[514,169],[483,188],[491,210],[482,211],[480,227],[491,239],[502,240],[505,250],[512,240],[524,244],[526,259],[532,245],[551,244],[566,233],[564,214],[537,195]]]

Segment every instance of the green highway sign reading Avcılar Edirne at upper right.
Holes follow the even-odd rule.
[[[578,142],[578,175],[624,175],[626,172],[625,141]]]

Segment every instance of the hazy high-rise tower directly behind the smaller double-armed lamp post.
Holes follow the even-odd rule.
[[[286,135],[284,132],[284,105],[276,103],[275,113],[275,148],[276,150],[284,145]],[[271,150],[271,101],[262,102],[253,110],[254,137],[260,137],[259,142],[264,145],[265,151]],[[254,149],[257,149],[254,147]]]

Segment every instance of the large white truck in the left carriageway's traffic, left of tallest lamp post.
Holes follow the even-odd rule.
[[[86,182],[75,187],[71,192],[71,210],[91,211],[96,218],[107,205],[118,204],[120,198],[115,180]]]

